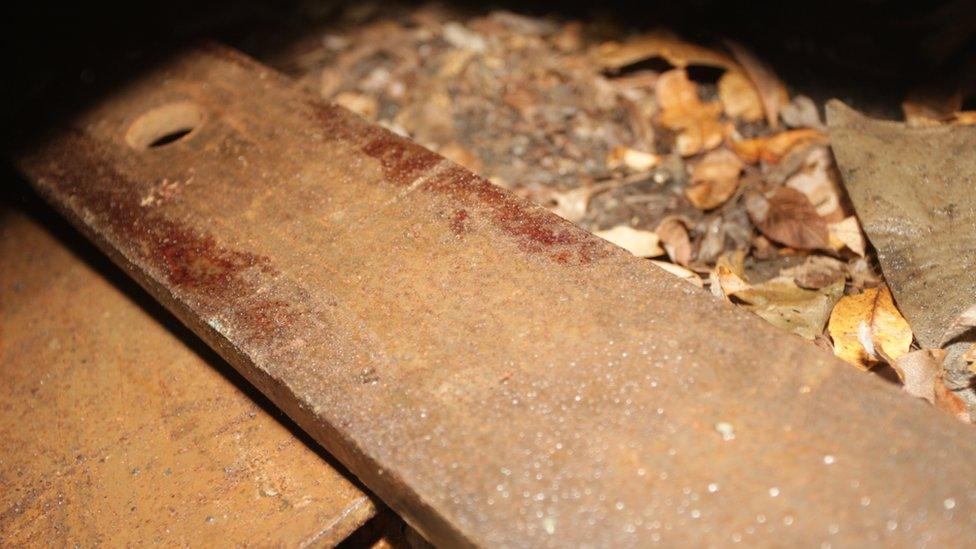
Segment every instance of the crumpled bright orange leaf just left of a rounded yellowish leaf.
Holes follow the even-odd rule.
[[[725,126],[718,119],[722,105],[702,103],[698,87],[683,69],[662,74],[654,89],[661,107],[661,125],[678,132],[675,139],[678,154],[692,156],[722,143]]]

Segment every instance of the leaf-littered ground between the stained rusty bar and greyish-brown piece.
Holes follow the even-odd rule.
[[[786,332],[832,346],[859,368],[894,368],[910,394],[968,418],[954,392],[966,392],[961,378],[943,375],[940,345],[928,337],[934,327],[922,319],[931,315],[915,308],[955,300],[906,295],[904,277],[917,276],[910,259],[900,256],[895,266],[882,254],[879,264],[861,228],[867,224],[871,243],[887,252],[878,223],[890,219],[887,201],[901,198],[865,209],[855,181],[855,211],[831,150],[836,124],[828,137],[818,104],[791,96],[745,46],[692,42],[666,29],[635,35],[605,21],[366,3],[276,64],[324,99]],[[958,112],[956,95],[920,101],[906,100],[915,125],[939,132],[976,122]],[[852,135],[843,138],[848,149]],[[841,157],[847,179],[859,179],[850,167],[862,160]],[[903,159],[887,164],[908,169]],[[915,208],[939,219],[919,219],[951,225],[972,215],[967,197],[936,194],[950,202]],[[864,217],[870,211],[881,217]],[[965,222],[972,227],[972,217]],[[888,226],[889,236],[902,238],[898,225]],[[931,240],[939,233],[930,229],[904,235]],[[976,233],[960,232],[968,244],[954,253],[965,257]],[[940,246],[962,243],[941,234]],[[940,266],[954,261],[939,257]],[[969,299],[976,271],[955,261],[969,267],[958,279]],[[957,274],[938,276],[951,284]],[[911,325],[896,302],[908,307]],[[940,385],[943,377],[952,390]]]

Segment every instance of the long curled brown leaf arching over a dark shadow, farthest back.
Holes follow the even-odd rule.
[[[736,67],[735,61],[725,53],[686,42],[664,30],[653,31],[624,43],[601,44],[596,57],[606,69],[620,69],[653,57],[660,57],[678,68],[688,65],[724,69]]]

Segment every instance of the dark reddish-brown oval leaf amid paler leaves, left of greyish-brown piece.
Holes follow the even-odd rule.
[[[767,238],[800,250],[829,248],[827,222],[796,189],[779,187],[768,195],[746,196],[749,219]]]

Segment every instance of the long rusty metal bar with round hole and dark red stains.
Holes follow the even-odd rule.
[[[976,543],[967,426],[236,53],[17,158],[433,541]]]

